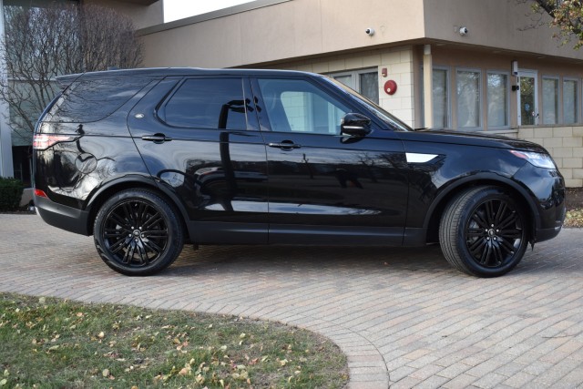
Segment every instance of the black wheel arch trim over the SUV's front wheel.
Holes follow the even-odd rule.
[[[537,204],[535,200],[533,200],[532,195],[529,194],[528,190],[522,187],[517,181],[491,173],[457,179],[454,183],[447,186],[447,188],[441,190],[429,207],[424,220],[424,229],[427,231],[425,239],[427,242],[439,241],[439,222],[447,204],[465,189],[477,186],[496,186],[507,190],[518,201],[524,200],[522,204],[526,204],[525,208],[528,211],[526,217],[528,219],[528,224],[531,226],[528,230],[528,239],[530,241],[536,239],[537,228],[539,227],[540,220],[538,217],[539,212],[537,210]]]

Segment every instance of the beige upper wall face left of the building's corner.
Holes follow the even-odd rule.
[[[141,33],[147,67],[239,67],[419,39],[423,15],[422,0],[292,0]]]

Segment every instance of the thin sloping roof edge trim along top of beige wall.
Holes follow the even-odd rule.
[[[160,31],[171,30],[173,28],[179,28],[183,26],[195,25],[197,23],[206,22],[212,19],[218,19],[220,17],[240,14],[241,12],[251,11],[257,8],[263,8],[270,5],[276,5],[280,3],[286,3],[292,0],[255,0],[250,3],[244,3],[240,5],[233,5],[228,8],[219,9],[217,11],[207,12],[206,14],[194,15],[190,17],[185,17],[184,19],[174,20],[169,23],[163,23],[161,25],[149,26],[146,28],[141,28],[136,31],[138,36],[147,36],[149,34],[159,33]]]

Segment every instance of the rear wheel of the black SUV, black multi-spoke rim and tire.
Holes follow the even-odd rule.
[[[148,190],[123,190],[97,212],[94,240],[101,259],[126,275],[150,275],[177,259],[184,235],[177,212]]]

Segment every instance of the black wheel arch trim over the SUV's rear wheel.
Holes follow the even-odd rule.
[[[163,200],[166,200],[171,207],[174,207],[177,210],[182,229],[187,232],[187,237],[189,236],[189,230],[187,229],[186,223],[188,213],[184,206],[180,203],[178,196],[176,196],[176,194],[174,194],[171,190],[164,188],[162,185],[159,185],[153,179],[148,179],[142,176],[127,176],[123,179],[109,181],[91,196],[87,202],[87,231],[89,232],[89,235],[93,235],[93,224],[97,217],[97,212],[101,206],[114,193],[125,189],[147,189],[156,193]]]

